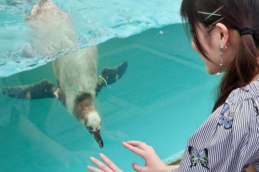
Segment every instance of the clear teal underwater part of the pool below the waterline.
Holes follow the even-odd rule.
[[[146,142],[163,160],[184,150],[189,136],[210,115],[218,78],[206,73],[182,24],[110,39],[98,45],[98,56],[98,74],[105,66],[128,61],[124,76],[103,88],[95,101],[104,148],[58,100],[26,100],[21,115],[37,130],[29,125],[0,129],[0,171],[86,171],[92,165],[90,156],[100,152],[122,170],[134,171],[131,163],[144,165],[144,160],[125,149],[123,141]],[[51,62],[10,77],[21,85],[56,82]],[[13,100],[4,95],[0,99]]]

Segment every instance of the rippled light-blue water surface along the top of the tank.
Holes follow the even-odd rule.
[[[68,13],[70,21],[56,20],[49,24],[49,30],[45,23],[37,28],[25,22],[26,15],[39,0],[0,1],[0,77],[39,67],[64,54],[114,37],[125,38],[149,28],[181,22],[182,0],[53,1]],[[69,30],[76,35],[69,34]],[[64,39],[55,40],[58,36]],[[41,42],[42,39],[47,41]],[[35,48],[35,44],[39,45],[37,49],[53,46],[52,42],[61,44],[47,56]]]

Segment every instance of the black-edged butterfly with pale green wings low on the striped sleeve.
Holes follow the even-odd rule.
[[[200,164],[210,170],[208,168],[208,149],[203,149],[200,153],[198,153],[192,146],[188,146],[189,154],[191,155],[191,166],[196,166],[198,162]]]

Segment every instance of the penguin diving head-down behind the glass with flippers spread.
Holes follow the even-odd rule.
[[[39,4],[33,7],[31,14],[35,15],[35,12],[39,11],[37,17],[41,19],[46,14],[52,17],[60,14],[55,11],[59,8],[53,5],[52,1],[42,0]],[[53,10],[49,10],[50,8]],[[47,13],[42,12],[45,9],[48,10]],[[97,46],[86,47],[52,61],[57,85],[45,79],[32,85],[5,87],[1,91],[7,96],[19,99],[59,100],[87,128],[100,148],[103,148],[100,136],[101,119],[93,103],[103,87],[115,83],[124,75],[128,64],[125,61],[113,68],[104,67],[97,80],[97,63]]]

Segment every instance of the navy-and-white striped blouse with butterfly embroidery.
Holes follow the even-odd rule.
[[[171,172],[259,171],[259,79],[235,89],[189,138]]]

